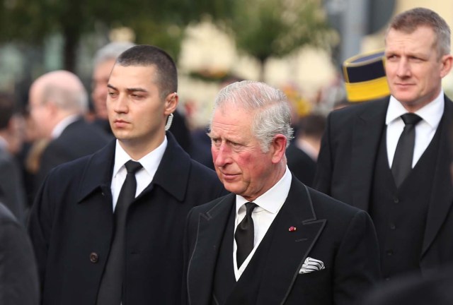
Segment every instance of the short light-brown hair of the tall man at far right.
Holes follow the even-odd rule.
[[[428,8],[413,8],[398,14],[391,21],[386,35],[391,29],[411,34],[420,26],[426,26],[434,31],[439,58],[450,53],[450,28],[439,14]]]

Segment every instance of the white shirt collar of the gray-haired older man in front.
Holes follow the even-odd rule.
[[[289,172],[288,167],[286,167],[283,177],[272,188],[256,198],[253,203],[256,203],[260,208],[267,210],[269,213],[278,213],[288,196],[291,187],[291,179],[291,172]],[[246,198],[236,195],[236,215],[238,214],[239,208],[247,202]]]

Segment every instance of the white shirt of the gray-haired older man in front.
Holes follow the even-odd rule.
[[[248,255],[245,261],[243,261],[241,268],[238,269],[236,262],[236,239],[234,239],[233,245],[233,262],[234,262],[234,276],[236,281],[241,277],[243,270],[246,269],[248,263],[250,262],[253,254],[260,245],[260,242],[263,240],[266,232],[272,222],[275,220],[278,211],[282,208],[283,203],[285,203],[286,198],[289,193],[289,188],[291,187],[291,172],[289,172],[288,167],[286,167],[285,174],[282,179],[280,179],[271,189],[263,193],[263,195],[256,198],[253,203],[258,205],[252,213],[253,227],[255,232],[255,238],[253,242],[253,250]],[[234,222],[234,227],[238,227],[239,222],[243,220],[243,217],[246,216],[246,206],[245,204],[248,201],[242,196],[236,195],[236,217]],[[236,232],[236,229],[234,230]]]

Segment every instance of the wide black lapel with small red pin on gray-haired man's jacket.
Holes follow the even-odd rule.
[[[305,258],[319,238],[325,219],[316,218],[311,196],[304,184],[292,177],[288,197],[273,232],[268,263],[260,280],[256,304],[283,304]],[[289,227],[297,230],[289,232]],[[277,275],[278,280],[275,280]]]

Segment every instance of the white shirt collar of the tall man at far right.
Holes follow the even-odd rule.
[[[431,128],[437,128],[439,126],[440,119],[444,113],[444,91],[440,90],[440,94],[432,100],[432,102],[426,104],[424,107],[418,109],[415,114],[420,116],[423,121],[426,121]],[[387,108],[387,115],[385,124],[389,125],[395,119],[398,119],[402,114],[407,113],[406,108],[403,107],[401,102],[398,102],[395,97],[390,97],[389,108]]]

